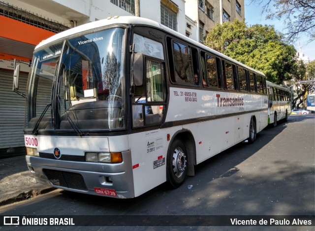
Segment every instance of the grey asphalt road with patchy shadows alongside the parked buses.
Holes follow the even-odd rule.
[[[238,144],[196,166],[195,176],[187,177],[176,190],[163,184],[133,199],[56,190],[0,207],[0,215],[315,215],[315,115],[292,115],[287,123],[280,123],[275,128],[267,127],[257,134],[254,144]],[[214,227],[182,228],[211,230]],[[105,230],[104,227],[85,229]],[[236,229],[265,230],[267,227]],[[179,228],[168,227],[168,230]],[[275,230],[315,228],[277,227]]]

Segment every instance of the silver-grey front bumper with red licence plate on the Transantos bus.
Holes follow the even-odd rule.
[[[122,163],[78,162],[26,155],[36,182],[55,188],[117,198],[134,197],[130,151]]]

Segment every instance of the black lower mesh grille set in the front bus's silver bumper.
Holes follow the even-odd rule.
[[[88,191],[81,174],[51,169],[43,169],[43,172],[53,185]]]

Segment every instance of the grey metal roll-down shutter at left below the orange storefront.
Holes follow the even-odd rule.
[[[25,93],[27,74],[20,73],[19,91]],[[25,98],[12,91],[13,72],[0,71],[0,149],[24,146]]]

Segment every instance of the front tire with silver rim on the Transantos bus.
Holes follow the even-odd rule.
[[[167,177],[171,188],[176,189],[184,183],[188,170],[187,160],[185,144],[180,139],[174,140],[167,154]]]

